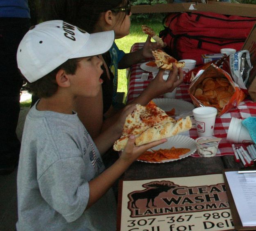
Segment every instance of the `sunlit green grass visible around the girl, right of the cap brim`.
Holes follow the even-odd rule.
[[[115,42],[120,50],[125,51],[125,53],[129,53],[131,46],[135,42],[145,42],[147,39],[147,35],[142,32],[141,22],[131,22],[131,28],[129,35],[125,36],[124,38],[117,39]],[[152,23],[152,22],[145,22],[147,26],[151,27],[159,33],[159,31],[163,30],[163,25],[161,22]],[[126,78],[126,69],[118,70],[118,92],[125,92],[127,94],[127,78]]]

